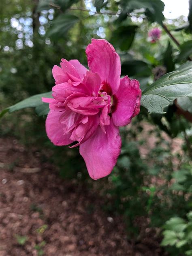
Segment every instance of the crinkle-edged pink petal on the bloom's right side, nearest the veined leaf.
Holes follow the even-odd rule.
[[[125,126],[140,111],[139,81],[130,80],[128,77],[122,78],[119,90],[113,97],[115,102],[115,109],[112,112],[113,123],[116,126]]]

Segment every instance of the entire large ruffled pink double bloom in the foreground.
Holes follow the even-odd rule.
[[[77,141],[93,179],[111,173],[121,149],[119,126],[139,113],[141,90],[137,80],[120,78],[121,63],[113,46],[92,39],[86,48],[87,70],[78,60],[62,59],[53,67],[53,98],[46,119],[47,136],[54,145]]]

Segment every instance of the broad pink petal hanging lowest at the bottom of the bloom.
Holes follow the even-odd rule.
[[[111,124],[106,126],[106,134],[98,126],[94,134],[80,145],[80,154],[92,179],[100,179],[111,173],[120,154],[120,148],[119,128],[112,120]]]

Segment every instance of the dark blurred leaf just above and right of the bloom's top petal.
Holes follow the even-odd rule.
[[[138,26],[121,26],[117,28],[112,33],[112,45],[115,45],[115,47],[119,47],[122,51],[127,51],[133,43],[134,35],[137,28]]]

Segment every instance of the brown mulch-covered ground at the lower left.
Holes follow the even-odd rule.
[[[96,190],[61,179],[40,155],[0,138],[0,256],[166,255],[149,228],[141,242],[128,241],[123,218],[103,211]]]

